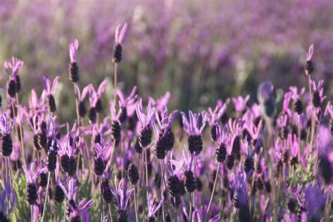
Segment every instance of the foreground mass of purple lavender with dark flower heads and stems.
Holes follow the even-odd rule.
[[[57,119],[60,77],[44,77],[43,93],[32,90],[25,106],[18,100],[22,61],[4,64],[1,221],[332,220],[333,107],[324,81],[311,79],[313,45],[304,66],[309,89],[290,86],[281,111],[264,81],[259,103],[239,96],[187,115],[169,112],[171,93],[145,100],[136,86],[128,97],[119,91],[127,28],[115,34],[110,104],[101,99],[107,81],[80,89],[79,43],[70,44],[72,125]]]

